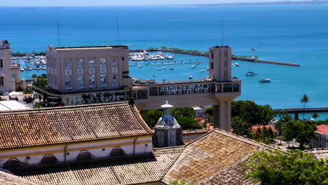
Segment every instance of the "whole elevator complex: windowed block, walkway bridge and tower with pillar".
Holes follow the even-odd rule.
[[[212,105],[214,128],[221,128],[231,132],[231,101],[240,95],[241,81],[237,78],[231,78],[231,48],[228,46],[214,46],[210,48],[210,78],[201,80],[138,80],[131,83],[131,78],[128,76],[128,56],[125,56],[124,60],[121,58],[120,62],[118,62],[118,65],[122,67],[121,69],[118,68],[118,74],[121,74],[121,80],[118,81],[122,81],[122,83],[118,83],[117,88],[114,88],[109,81],[107,81],[106,88],[101,87],[101,85],[90,86],[90,81],[86,79],[90,79],[90,76],[99,77],[102,74],[101,67],[99,68],[98,65],[101,64],[100,59],[104,56],[103,50],[113,50],[113,52],[122,50],[122,53],[128,55],[128,47],[126,46],[48,47],[47,60],[50,60],[47,62],[49,87],[36,88],[36,90],[43,93],[48,106],[52,106],[53,103],[51,101],[55,99],[64,105],[118,102],[132,99],[139,110],[158,109],[160,105],[165,103],[165,100],[168,100],[177,108]],[[73,76],[75,76],[73,74],[76,74],[78,71],[76,65],[80,55],[85,56],[83,57],[83,69],[81,69],[84,75],[83,83],[85,84],[78,90],[78,85],[74,81],[70,83],[70,79],[73,79]],[[123,54],[115,55],[117,55],[116,57],[121,57]],[[113,69],[110,69],[110,67],[112,67],[111,62],[113,61],[111,61],[110,56],[109,60],[106,60],[106,71],[111,70],[112,73]],[[92,60],[88,57],[91,57]],[[94,58],[95,60],[93,60]],[[92,64],[95,62],[95,70],[90,69],[90,61]],[[71,69],[64,66],[71,67]],[[107,78],[112,75],[107,74]],[[100,81],[100,78],[98,80]],[[98,80],[95,81],[95,84],[100,84]],[[63,81],[68,81],[69,83],[64,83]]]

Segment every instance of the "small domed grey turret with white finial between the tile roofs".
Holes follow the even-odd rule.
[[[170,109],[173,106],[168,104],[168,100],[166,100],[166,104],[160,107],[164,109],[164,115],[158,119],[154,128],[155,138],[153,139],[153,145],[156,147],[182,145],[182,127],[170,114]]]

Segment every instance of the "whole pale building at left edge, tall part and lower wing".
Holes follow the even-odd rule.
[[[11,62],[11,44],[0,40],[0,95],[20,87],[20,67]]]

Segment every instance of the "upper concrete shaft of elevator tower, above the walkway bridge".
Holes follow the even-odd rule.
[[[231,48],[214,46],[210,48],[210,78],[215,81],[231,81]]]

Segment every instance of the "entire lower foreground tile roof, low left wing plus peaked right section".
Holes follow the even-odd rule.
[[[243,163],[252,153],[274,150],[266,144],[213,130],[186,146],[153,149],[153,156],[13,170],[36,184],[257,184],[245,180]]]

